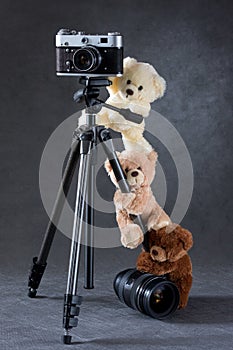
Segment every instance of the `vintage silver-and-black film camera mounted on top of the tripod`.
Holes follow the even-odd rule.
[[[123,38],[119,33],[90,35],[60,29],[56,35],[56,74],[110,77],[123,74]]]

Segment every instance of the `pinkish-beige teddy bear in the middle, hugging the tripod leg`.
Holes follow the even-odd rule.
[[[136,248],[144,239],[144,233],[139,225],[134,223],[133,215],[141,215],[148,230],[158,230],[170,223],[170,218],[156,202],[151,190],[155,176],[157,153],[148,155],[140,152],[123,151],[118,154],[120,164],[126,174],[131,193],[122,193],[117,189],[114,195],[116,218],[121,231],[121,243],[127,248]],[[109,161],[105,168],[112,182],[118,187]]]

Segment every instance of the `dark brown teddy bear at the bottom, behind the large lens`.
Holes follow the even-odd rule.
[[[150,252],[142,251],[137,269],[155,275],[167,275],[180,293],[179,308],[188,302],[192,286],[192,263],[187,251],[193,245],[192,234],[179,225],[170,225],[149,233]]]

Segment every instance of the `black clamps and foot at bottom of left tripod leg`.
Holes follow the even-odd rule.
[[[38,260],[37,257],[33,258],[33,265],[29,275],[29,279],[28,279],[28,287],[29,287],[28,296],[30,298],[34,298],[36,296],[41,278],[47,266],[47,263],[44,263],[44,264],[37,263],[37,260]]]

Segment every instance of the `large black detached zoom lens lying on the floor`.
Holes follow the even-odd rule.
[[[127,269],[117,274],[113,287],[122,303],[153,318],[164,319],[179,305],[178,288],[165,276]]]

